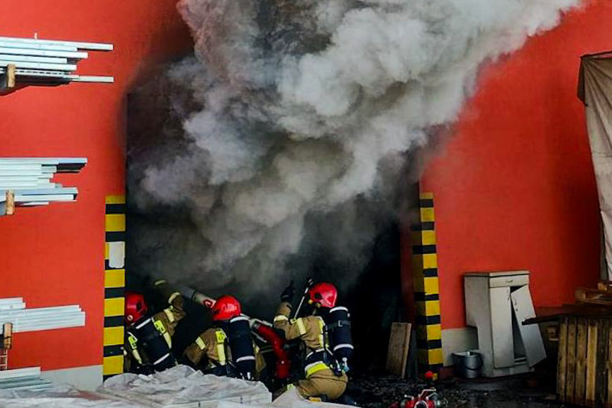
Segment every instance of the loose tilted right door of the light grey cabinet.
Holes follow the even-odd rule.
[[[523,326],[523,321],[535,317],[535,310],[533,309],[533,302],[531,302],[529,287],[523,286],[521,289],[515,290],[512,292],[511,298],[518,331],[521,332],[523,346],[525,346],[527,363],[530,367],[533,367],[533,365],[540,363],[540,361],[546,358],[546,351],[538,324]]]

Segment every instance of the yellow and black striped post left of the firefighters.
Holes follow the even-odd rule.
[[[126,197],[106,196],[104,255],[104,379],[123,373],[126,286]]]

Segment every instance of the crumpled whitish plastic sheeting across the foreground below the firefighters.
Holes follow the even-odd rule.
[[[0,408],[346,408],[309,402],[295,389],[272,401],[261,382],[203,375],[185,365],[153,375],[109,378],[98,392],[56,386],[44,392],[2,392]]]

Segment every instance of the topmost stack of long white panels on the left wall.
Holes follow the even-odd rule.
[[[91,51],[111,51],[112,44],[79,43],[37,38],[0,37],[0,75],[15,65],[18,84],[58,85],[68,82],[106,82],[113,77],[77,75],[77,64]]]

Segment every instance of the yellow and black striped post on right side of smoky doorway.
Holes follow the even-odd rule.
[[[412,227],[411,241],[418,365],[421,373],[436,372],[443,366],[444,355],[433,193],[419,197],[419,220]]]

